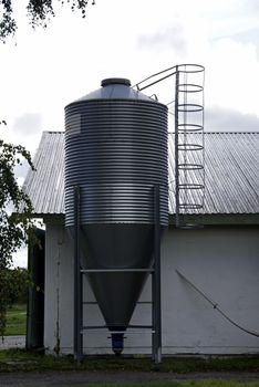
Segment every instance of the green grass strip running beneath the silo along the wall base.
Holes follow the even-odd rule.
[[[0,351],[0,372],[31,370],[89,370],[89,372],[159,372],[159,373],[206,373],[206,372],[259,372],[259,356],[235,357],[164,357],[154,364],[149,357],[85,356],[77,365],[73,356],[41,355],[25,349]]]

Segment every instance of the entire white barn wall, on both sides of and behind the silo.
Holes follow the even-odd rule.
[[[73,352],[73,245],[62,224],[46,224],[44,345]],[[258,228],[170,229],[162,245],[164,354],[258,353],[259,338],[226,321],[175,271],[178,268],[238,324],[259,333]],[[120,291],[120,290],[118,290]],[[85,281],[84,300],[94,301]],[[147,282],[143,301],[151,301]],[[104,324],[96,305],[85,323]],[[151,324],[151,305],[137,305],[132,324]],[[85,353],[111,353],[107,331],[84,336]],[[126,334],[124,353],[151,353],[151,333]]]

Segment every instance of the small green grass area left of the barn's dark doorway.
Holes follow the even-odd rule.
[[[6,336],[22,336],[27,330],[27,305],[12,305],[7,313]]]

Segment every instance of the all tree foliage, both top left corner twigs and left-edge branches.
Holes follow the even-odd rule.
[[[14,1],[19,0],[0,1],[0,41],[3,43],[18,29],[13,17]],[[27,12],[32,28],[46,28],[49,20],[55,15],[53,6],[58,2],[69,4],[72,11],[77,9],[85,18],[89,0],[28,0]],[[95,4],[95,0],[92,0],[92,4]],[[6,122],[0,121],[0,125],[6,125]],[[24,242],[35,238],[30,198],[19,187],[14,176],[15,166],[24,160],[33,169],[31,156],[23,146],[0,139],[0,336],[4,334],[7,307],[14,286],[10,282],[9,270],[12,254]]]

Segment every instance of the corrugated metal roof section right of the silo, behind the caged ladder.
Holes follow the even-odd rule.
[[[199,135],[189,137],[200,143]],[[259,212],[259,133],[205,133],[204,213]],[[186,153],[188,163],[199,163],[198,151]],[[169,181],[174,180],[174,135],[169,135]],[[193,172],[193,182],[200,181]],[[173,185],[174,186],[174,185]],[[170,185],[169,185],[170,187]],[[201,201],[201,191],[190,198]],[[169,195],[169,213],[175,212],[174,188]],[[189,211],[190,212],[190,211]],[[195,211],[193,211],[195,212]]]

